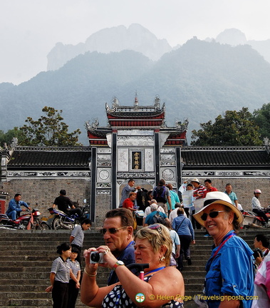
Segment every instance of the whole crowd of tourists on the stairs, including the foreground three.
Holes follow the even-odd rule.
[[[69,243],[57,247],[59,257],[46,289],[52,292],[53,307],[76,307],[79,289],[89,307],[184,307],[184,258],[192,265],[189,245],[195,244],[194,229],[200,227],[214,240],[201,307],[270,307],[269,238],[256,235],[251,250],[238,236],[243,215],[232,185],[224,192],[209,179],[204,185],[194,178],[182,185],[179,197],[165,180],[147,192],[130,179],[120,206],[105,215],[100,230],[104,245],[83,252],[83,271],[81,249],[90,220],[71,232]],[[260,194],[254,192],[256,208]],[[144,217],[135,217],[140,209]],[[110,269],[105,287],[98,285],[98,267]]]

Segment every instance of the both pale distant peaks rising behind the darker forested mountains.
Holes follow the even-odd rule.
[[[248,41],[242,31],[226,29],[215,39],[207,38],[205,41],[217,41],[231,46],[250,45],[270,63],[270,39],[266,41]],[[153,61],[157,61],[163,54],[180,47],[180,45],[177,45],[172,48],[167,40],[157,39],[154,34],[140,24],[131,24],[128,28],[115,26],[102,29],[89,36],[85,43],[78,43],[75,46],[71,44],[64,45],[61,42],[56,43],[56,46],[48,53],[47,70],[55,71],[72,58],[87,51],[110,53],[133,50],[142,53]]]

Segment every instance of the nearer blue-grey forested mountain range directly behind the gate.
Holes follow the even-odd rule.
[[[188,118],[190,142],[199,123],[243,106],[253,112],[270,101],[270,63],[250,45],[194,37],[163,52],[153,61],[142,51],[86,51],[19,86],[0,83],[0,129],[24,125],[28,116],[37,119],[43,106],[51,106],[63,110],[71,130],[82,130],[81,142],[87,145],[85,121],[99,118],[100,125],[107,125],[105,102],[110,106],[116,96],[120,105],[130,106],[137,92],[142,106],[160,96],[167,125]]]

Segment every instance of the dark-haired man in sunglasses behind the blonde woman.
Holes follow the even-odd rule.
[[[101,232],[113,255],[125,265],[135,263],[133,241],[133,214],[123,207],[110,210],[105,215]],[[115,271],[110,272],[108,285],[118,282]]]

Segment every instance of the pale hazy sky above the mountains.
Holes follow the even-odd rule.
[[[269,12],[269,0],[0,0],[0,83],[46,71],[57,42],[85,42],[100,29],[137,23],[171,46],[230,28],[266,40]]]

